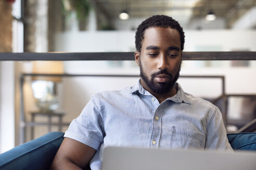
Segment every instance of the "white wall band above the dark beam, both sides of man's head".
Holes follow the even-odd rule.
[[[185,30],[184,51],[256,51],[255,30]],[[55,51],[134,51],[134,31],[65,32],[56,35]],[[216,49],[217,47],[217,49]]]

